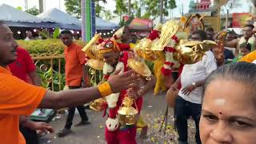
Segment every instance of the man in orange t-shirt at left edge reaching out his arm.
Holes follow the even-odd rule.
[[[133,71],[118,74],[98,87],[52,92],[30,85],[10,73],[8,65],[17,58],[18,44],[9,26],[0,21],[0,139],[5,144],[26,144],[18,130],[19,115],[30,115],[37,107],[59,109],[78,106],[134,86]],[[133,75],[132,75],[133,74]],[[122,83],[122,85],[120,85]]]

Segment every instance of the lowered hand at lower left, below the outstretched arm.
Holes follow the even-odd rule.
[[[31,130],[42,130],[42,132],[44,133],[53,133],[54,132],[54,129],[46,122],[32,122],[30,121],[31,124],[29,126],[29,128]]]

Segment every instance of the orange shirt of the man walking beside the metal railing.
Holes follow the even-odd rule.
[[[82,52],[82,47],[74,42],[64,50],[66,66],[66,85],[80,86],[83,76],[83,66],[86,63],[86,54]]]

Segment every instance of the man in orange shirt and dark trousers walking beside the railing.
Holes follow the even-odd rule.
[[[66,74],[66,86],[69,86],[70,90],[79,89],[81,86],[86,87],[88,83],[88,74],[86,72],[86,55],[82,52],[82,46],[73,42],[73,34],[70,30],[63,30],[60,34],[60,38],[66,48],[64,50],[65,55],[65,74]],[[78,112],[82,119],[76,126],[82,126],[90,124],[86,115],[84,106],[77,106]],[[66,134],[70,134],[72,121],[74,118],[75,107],[69,108],[69,113],[66,118],[66,125],[63,130],[58,132],[58,137],[64,137]]]

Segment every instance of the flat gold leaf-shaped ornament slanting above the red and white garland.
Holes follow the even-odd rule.
[[[170,39],[178,32],[180,25],[177,21],[170,20],[162,26],[160,38],[154,42],[152,50],[162,51],[170,42]]]

